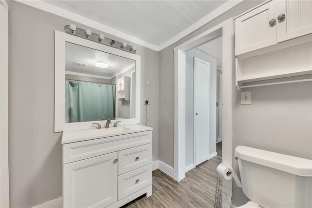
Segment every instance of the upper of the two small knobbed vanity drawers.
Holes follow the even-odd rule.
[[[118,152],[118,175],[152,163],[152,144]]]

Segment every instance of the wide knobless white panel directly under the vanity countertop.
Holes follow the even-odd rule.
[[[152,131],[142,131],[63,145],[63,164],[152,143]]]

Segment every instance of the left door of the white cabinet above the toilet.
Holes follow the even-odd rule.
[[[235,55],[276,43],[276,1],[272,0],[235,20]]]

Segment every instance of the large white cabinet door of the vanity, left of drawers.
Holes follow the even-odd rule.
[[[103,208],[117,201],[117,152],[63,166],[63,207]]]

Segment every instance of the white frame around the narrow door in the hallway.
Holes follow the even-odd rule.
[[[202,62],[202,63],[205,63],[207,65],[209,65],[209,73],[208,73],[208,80],[209,80],[209,89],[208,89],[208,154],[210,155],[210,152],[209,152],[209,141],[210,141],[210,125],[209,125],[209,104],[210,104],[210,63],[209,62],[206,62],[204,60],[201,60],[197,57],[194,57],[193,59],[193,164],[194,164],[194,167],[196,166],[196,133],[195,133],[195,127],[196,127],[196,120],[195,120],[195,96],[196,96],[196,93],[195,93],[195,81],[196,81],[196,71],[195,71],[195,61],[198,61],[198,62]]]

